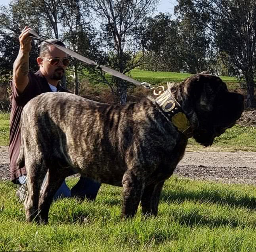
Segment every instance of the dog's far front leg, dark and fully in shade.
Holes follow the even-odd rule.
[[[157,216],[160,193],[164,181],[146,186],[141,197],[142,213]]]

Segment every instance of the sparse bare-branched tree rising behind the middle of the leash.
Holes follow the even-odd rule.
[[[84,0],[97,17],[109,53],[109,65],[125,74],[144,63],[148,52],[136,35],[144,18],[155,10],[159,0]],[[136,57],[140,53],[141,57]],[[120,103],[127,99],[127,83],[117,80]]]

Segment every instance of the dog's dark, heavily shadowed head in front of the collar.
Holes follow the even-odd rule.
[[[197,125],[192,127],[193,137],[198,143],[210,146],[216,136],[235,125],[241,116],[243,96],[229,92],[226,84],[211,74],[191,76],[183,84],[197,117]]]

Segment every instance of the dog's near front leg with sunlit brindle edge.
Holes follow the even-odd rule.
[[[126,171],[123,179],[123,207],[122,218],[133,217],[138,209],[139,202],[145,187],[142,177],[135,175],[132,171]]]

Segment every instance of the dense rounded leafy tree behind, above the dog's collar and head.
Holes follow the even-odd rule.
[[[190,8],[187,13],[176,7],[176,14],[175,20],[169,13],[159,13],[147,19],[144,40],[148,49],[160,59],[144,69],[191,74],[212,69],[215,57],[210,47],[210,36],[206,28],[196,22],[197,13]]]

